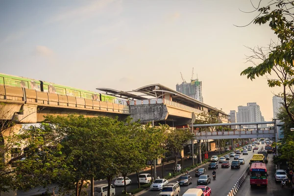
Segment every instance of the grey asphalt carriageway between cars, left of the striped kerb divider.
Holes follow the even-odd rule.
[[[259,145],[265,147],[265,145]],[[257,150],[254,151],[257,153]],[[242,158],[245,160],[245,164],[241,165],[241,168],[233,169],[230,168],[221,168],[221,164],[219,164],[219,169],[216,170],[217,172],[217,179],[211,181],[208,187],[212,190],[212,195],[218,196],[226,196],[228,195],[229,191],[233,188],[237,180],[241,177],[243,172],[245,172],[246,168],[249,166],[249,160],[252,158],[253,154],[252,151],[248,151],[248,155],[241,155]],[[230,162],[233,160],[233,157],[230,158]],[[207,170],[207,174],[212,177],[212,170],[208,170],[208,164],[206,164],[203,168]],[[189,186],[181,186],[180,195],[182,196],[188,189],[196,188],[197,186],[197,178],[195,177],[195,171],[189,173],[193,178],[193,183]],[[173,178],[170,182],[176,182],[177,179]],[[141,194],[140,196],[158,196],[160,191],[150,191],[148,190],[146,193]],[[240,195],[241,196],[241,195]]]

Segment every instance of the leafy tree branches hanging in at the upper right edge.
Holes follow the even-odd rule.
[[[256,7],[259,13],[252,21],[254,24],[269,25],[270,29],[277,35],[278,41],[267,49],[257,47],[249,48],[253,54],[247,56],[247,61],[255,66],[248,67],[241,75],[246,75],[251,80],[262,75],[274,73],[276,78],[268,78],[270,87],[283,87],[282,103],[290,120],[294,123],[294,113],[289,109],[294,100],[294,1],[272,0],[267,6]],[[256,63],[255,60],[261,60]]]

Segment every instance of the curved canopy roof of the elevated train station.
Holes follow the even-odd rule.
[[[225,112],[223,112],[215,107],[207,105],[201,101],[196,100],[195,98],[191,98],[187,95],[179,93],[179,92],[172,90],[171,88],[163,86],[161,84],[150,84],[150,85],[143,86],[143,87],[140,87],[136,90],[128,91],[128,92],[117,91],[117,90],[108,89],[108,88],[97,88],[97,90],[103,91],[107,95],[111,95],[111,96],[116,96],[116,97],[121,97],[121,98],[126,98],[126,99],[138,99],[138,100],[149,99],[147,97],[163,98],[165,95],[171,95],[172,101],[175,101],[175,102],[178,102],[178,103],[181,103],[184,105],[185,104],[186,105],[197,104],[197,105],[206,107],[210,110],[220,112],[221,114],[224,114],[226,116],[228,115]],[[130,92],[132,92],[132,93],[130,93]],[[144,95],[137,96],[137,95],[134,95],[133,93],[141,93]]]

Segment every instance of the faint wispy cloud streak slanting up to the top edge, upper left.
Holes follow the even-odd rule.
[[[51,17],[49,22],[60,22],[73,18],[89,17],[99,10],[107,7],[113,0],[92,1],[90,4],[80,6],[71,10],[62,11],[61,13]]]

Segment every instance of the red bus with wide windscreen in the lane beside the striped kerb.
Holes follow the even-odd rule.
[[[268,172],[265,163],[251,163],[250,186],[268,186]]]

